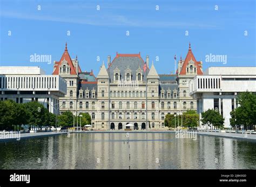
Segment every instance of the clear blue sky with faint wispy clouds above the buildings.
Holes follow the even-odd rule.
[[[149,55],[158,73],[168,74],[175,54],[185,59],[189,42],[204,70],[256,66],[254,0],[0,2],[1,66],[40,66],[51,74],[65,42],[82,70],[96,75],[107,55],[113,59],[116,52],[140,52],[144,60]],[[30,62],[35,53],[51,55],[52,63]],[[205,62],[208,54],[227,55],[227,63]]]

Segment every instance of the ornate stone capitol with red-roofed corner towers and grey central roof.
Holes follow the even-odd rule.
[[[92,70],[82,72],[66,46],[52,73],[67,83],[66,95],[59,98],[60,113],[87,112],[95,129],[124,129],[130,123],[142,130],[165,128],[167,113],[197,110],[188,83],[203,70],[190,46],[185,60],[180,57],[176,74],[158,74],[149,63],[149,56],[144,61],[140,53],[117,53],[112,61],[107,57],[107,67],[103,62],[96,77]]]

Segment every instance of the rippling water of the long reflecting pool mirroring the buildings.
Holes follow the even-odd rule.
[[[256,169],[255,142],[205,135],[177,139],[173,133],[130,133],[127,142],[126,133],[0,142],[0,168]]]

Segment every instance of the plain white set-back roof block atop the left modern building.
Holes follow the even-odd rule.
[[[45,75],[38,66],[0,66],[0,75]]]

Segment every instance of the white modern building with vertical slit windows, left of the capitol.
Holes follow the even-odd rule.
[[[35,100],[50,112],[59,113],[59,97],[65,94],[66,81],[59,75],[45,75],[39,67],[0,67],[0,100]]]

